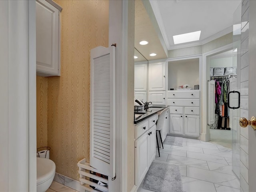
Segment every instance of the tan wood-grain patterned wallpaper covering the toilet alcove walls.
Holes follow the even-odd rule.
[[[108,1],[55,2],[63,8],[61,76],[37,78],[37,138],[51,147],[56,172],[79,180],[77,162],[90,157],[90,50],[108,46]]]

